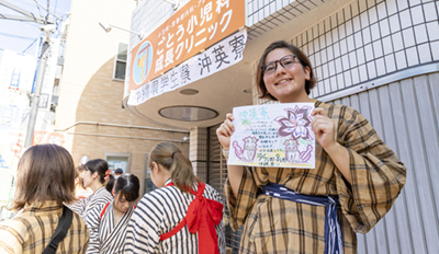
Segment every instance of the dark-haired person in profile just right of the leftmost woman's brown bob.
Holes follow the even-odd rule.
[[[105,172],[109,164],[102,159],[90,160],[85,164],[83,186],[91,188],[93,194],[86,199],[81,199],[69,208],[80,215],[85,220],[89,212],[97,206],[104,205],[113,200],[113,195],[105,188]]]

